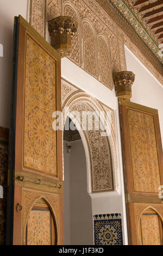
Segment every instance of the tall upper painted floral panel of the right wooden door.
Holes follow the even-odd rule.
[[[158,193],[158,152],[152,114],[128,109],[131,162],[135,192]]]

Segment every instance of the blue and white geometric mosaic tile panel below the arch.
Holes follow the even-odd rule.
[[[94,215],[95,245],[123,245],[121,214]]]

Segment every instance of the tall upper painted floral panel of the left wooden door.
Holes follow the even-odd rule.
[[[27,35],[24,100],[24,167],[57,175],[55,60]]]

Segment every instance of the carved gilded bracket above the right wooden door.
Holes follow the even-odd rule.
[[[121,71],[113,74],[115,92],[118,98],[129,100],[132,96],[131,86],[134,83],[135,75],[131,71]]]

